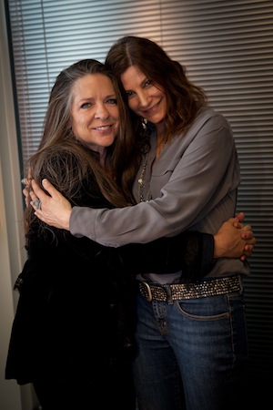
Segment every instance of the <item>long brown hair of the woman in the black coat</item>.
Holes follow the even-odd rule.
[[[98,154],[78,141],[71,129],[72,86],[78,78],[97,73],[111,79],[119,109],[120,121],[117,136],[112,146],[107,149],[113,178],[101,168]],[[76,205],[80,204],[78,192],[82,187],[82,181],[90,180],[92,174],[97,187],[110,204],[115,207],[124,207],[135,203],[132,184],[140,152],[136,149],[136,134],[131,127],[131,118],[125,102],[126,96],[122,93],[123,90],[119,89],[112,72],[94,59],[80,60],[64,69],[56,77],[56,83],[51,90],[45,114],[43,137],[39,149],[25,164],[25,175],[30,172],[31,177],[41,187],[42,179],[54,180],[56,189],[60,190],[73,205]],[[34,220],[32,207],[26,208],[26,232]]]

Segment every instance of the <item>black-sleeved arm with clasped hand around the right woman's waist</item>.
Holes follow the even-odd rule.
[[[230,218],[224,222],[215,236],[197,231],[185,231],[172,238],[122,246],[118,248],[119,257],[125,269],[131,271],[133,269],[135,273],[166,273],[182,269],[184,278],[199,280],[212,269],[217,258],[232,258],[236,253],[239,257],[244,252],[250,256],[256,239],[253,237],[249,240],[253,245],[248,244],[248,251],[244,251],[245,241],[241,241],[238,235],[238,227],[242,226],[239,218],[243,220],[242,212],[237,218]],[[251,227],[244,227],[241,235],[252,237],[248,229]],[[232,238],[232,241],[227,241],[228,238]],[[245,259],[246,254],[241,256],[242,261]]]

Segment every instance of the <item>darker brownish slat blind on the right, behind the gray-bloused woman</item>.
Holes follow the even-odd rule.
[[[172,4],[172,5],[171,5]],[[258,244],[245,281],[248,381],[273,376],[273,2],[162,2],[162,44],[229,120]]]

